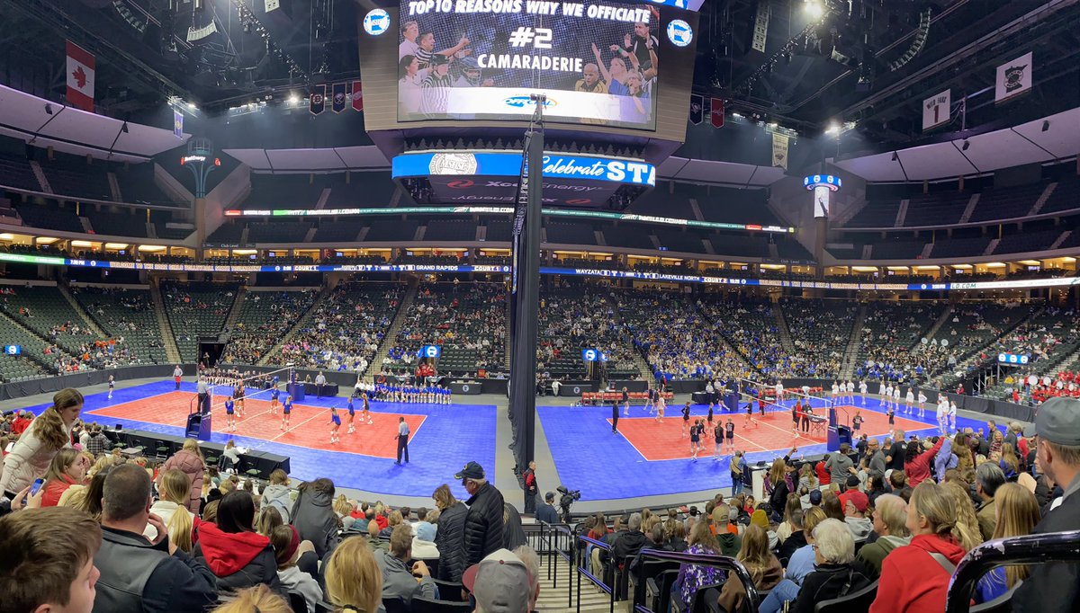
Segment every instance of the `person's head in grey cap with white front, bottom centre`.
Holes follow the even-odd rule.
[[[469,567],[461,583],[476,600],[476,613],[526,613],[536,602],[528,568],[510,549],[496,549]]]

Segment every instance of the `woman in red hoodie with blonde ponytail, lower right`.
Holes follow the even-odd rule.
[[[912,543],[886,556],[870,613],[945,610],[949,580],[967,553],[956,518],[956,501],[942,486],[926,480],[915,488],[907,505]]]

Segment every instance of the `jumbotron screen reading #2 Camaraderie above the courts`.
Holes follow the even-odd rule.
[[[688,90],[694,59],[697,15],[650,2],[402,0],[397,15],[382,14],[382,32],[364,22],[362,71],[393,62],[401,124],[524,121],[542,94],[550,122],[656,131],[667,88]]]

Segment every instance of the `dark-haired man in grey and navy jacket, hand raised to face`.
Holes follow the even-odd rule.
[[[102,498],[94,613],[202,611],[217,601],[214,573],[171,543],[161,518],[150,513],[146,471],[135,464],[112,468]],[[147,525],[157,531],[153,541],[143,535]]]

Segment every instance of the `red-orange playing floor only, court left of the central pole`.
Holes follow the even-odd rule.
[[[168,392],[86,411],[84,416],[110,417],[184,427],[187,424],[193,396],[188,392]],[[284,432],[281,430],[280,407],[278,413],[272,414],[269,400],[247,398],[244,403],[244,417],[237,414],[235,432],[225,430],[225,410],[215,403],[214,432],[226,436],[245,436],[308,449],[346,451],[375,458],[394,459],[397,452],[397,418],[405,418],[405,423],[409,426],[409,440],[416,437],[417,431],[427,419],[424,416],[373,411],[370,413],[373,423],[368,424],[361,422],[361,411],[357,410],[356,432],[349,434],[349,412],[338,410],[338,416],[341,417],[338,436],[341,441],[330,444],[333,424],[330,423],[329,409],[293,405],[289,430]],[[93,421],[87,417],[83,419]]]

